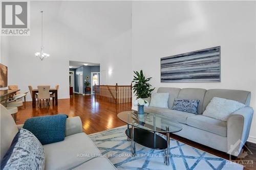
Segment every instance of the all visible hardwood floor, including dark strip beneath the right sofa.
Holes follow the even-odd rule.
[[[71,99],[58,100],[58,106],[52,105],[51,101],[51,106],[45,108],[32,108],[32,102],[27,102],[26,109],[19,109],[17,113],[17,119],[20,119],[17,124],[24,124],[25,120],[29,117],[62,113],[69,115],[69,117],[80,116],[83,131],[87,134],[92,134],[125,125],[121,120],[118,119],[117,114],[121,111],[131,110],[131,108],[131,104],[115,105],[102,100],[95,101],[93,95],[73,95],[73,98]],[[172,134],[171,137],[189,144],[192,147],[229,160],[229,155],[226,153],[214,150],[206,147],[205,145],[190,141],[174,134]],[[247,164],[247,167],[244,169],[256,169],[256,144],[246,142],[244,151],[248,153],[245,158],[232,157],[231,160],[237,160],[238,163],[241,163],[241,160],[251,160],[252,164]]]

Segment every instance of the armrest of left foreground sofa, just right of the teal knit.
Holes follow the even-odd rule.
[[[66,119],[65,136],[82,132],[82,121],[79,116],[69,117]]]

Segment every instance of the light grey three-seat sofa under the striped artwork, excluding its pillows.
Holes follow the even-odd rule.
[[[196,141],[208,147],[238,156],[248,139],[253,109],[250,105],[250,92],[228,89],[172,88],[160,87],[157,92],[169,93],[168,108],[144,107],[145,112],[161,114],[179,122],[183,129],[176,135]],[[246,105],[233,113],[227,122],[202,115],[213,97],[238,101]],[[197,114],[172,110],[174,99],[198,99]],[[149,103],[150,98],[145,99]]]

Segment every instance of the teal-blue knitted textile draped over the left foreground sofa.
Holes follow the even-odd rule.
[[[23,128],[33,133],[42,144],[62,141],[67,117],[66,114],[32,117],[25,121]]]

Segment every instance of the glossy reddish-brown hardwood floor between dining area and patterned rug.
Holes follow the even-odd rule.
[[[94,100],[92,95],[73,95],[71,99],[58,100],[58,106],[35,107],[32,102],[26,102],[26,109],[19,109],[17,124],[24,124],[25,120],[34,116],[67,114],[69,117],[79,116],[82,120],[83,131],[92,134],[125,125],[117,118],[117,113],[131,110],[131,104],[115,104]]]

